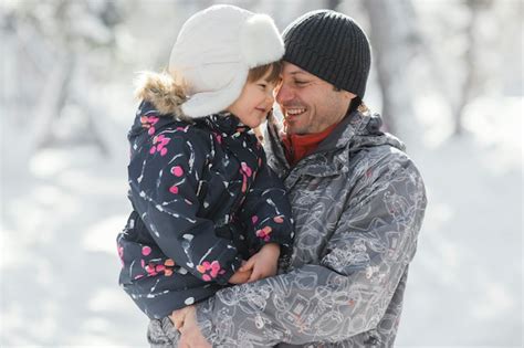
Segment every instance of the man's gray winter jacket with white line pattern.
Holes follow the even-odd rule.
[[[295,241],[274,277],[221,289],[197,305],[213,347],[391,347],[425,186],[377,115],[353,113],[294,168],[275,126],[268,158],[285,178]]]

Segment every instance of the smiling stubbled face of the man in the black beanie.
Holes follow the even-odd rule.
[[[355,94],[334,86],[298,66],[284,62],[276,87],[287,134],[319,133],[340,122]]]

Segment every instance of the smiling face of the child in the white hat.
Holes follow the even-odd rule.
[[[269,75],[270,72],[256,81],[248,81],[238,99],[226,109],[250,128],[260,126],[273,107],[275,84],[266,81]]]

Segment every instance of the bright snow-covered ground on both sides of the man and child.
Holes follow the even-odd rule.
[[[117,286],[115,252],[129,211],[134,104],[106,93],[129,105],[101,120],[109,157],[92,146],[25,157],[17,119],[1,120],[2,347],[146,346],[147,320]],[[409,149],[430,203],[399,347],[522,345],[522,98],[479,99],[463,137],[421,134]]]

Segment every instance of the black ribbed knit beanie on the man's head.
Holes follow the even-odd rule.
[[[331,10],[307,12],[287,25],[283,36],[284,61],[364,97],[371,49],[352,18]]]

